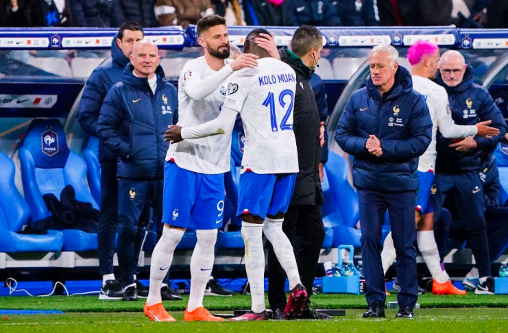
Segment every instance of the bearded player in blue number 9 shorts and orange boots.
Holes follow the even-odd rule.
[[[182,126],[194,126],[217,118],[224,101],[224,79],[234,71],[257,66],[258,56],[242,54],[229,60],[229,36],[221,16],[207,16],[197,23],[204,56],[189,60],[180,72],[178,104]],[[270,44],[269,40],[265,44]],[[273,49],[276,46],[273,42]],[[223,173],[230,170],[230,140],[212,136],[170,145],[164,171],[162,237],[152,254],[150,292],[145,315],[154,321],[174,321],[162,306],[160,285],[187,227],[196,230],[197,244],[191,258],[191,295],[184,321],[222,321],[203,307],[203,296],[215,258],[217,229],[224,210]]]

